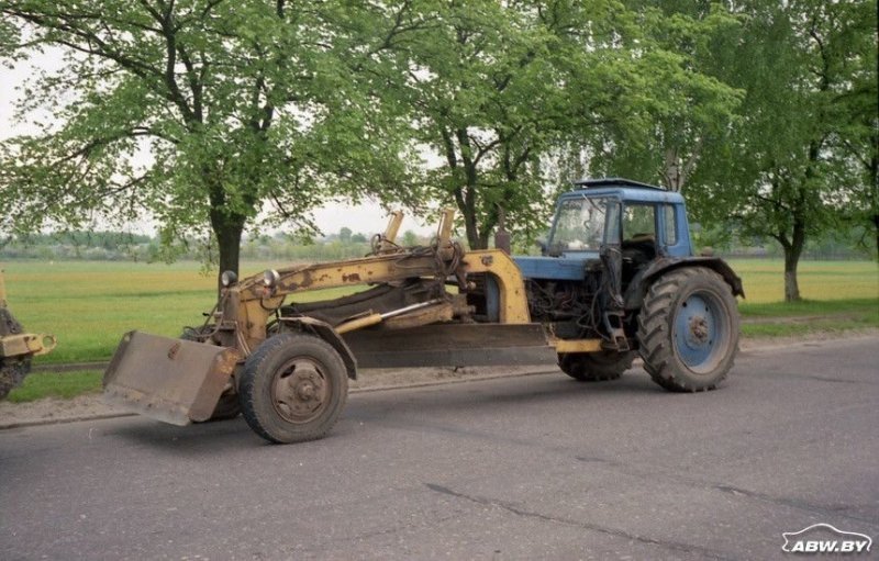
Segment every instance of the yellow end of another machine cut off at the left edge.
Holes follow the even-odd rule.
[[[5,399],[31,371],[31,359],[55,348],[55,336],[24,333],[7,304],[7,288],[0,270],[0,400]]]

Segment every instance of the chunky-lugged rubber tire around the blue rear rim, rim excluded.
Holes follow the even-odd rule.
[[[697,284],[693,287],[692,283]],[[701,284],[701,287],[700,287]],[[713,287],[712,287],[713,285]],[[711,375],[691,373],[675,356],[674,313],[682,295],[700,288],[714,288],[731,311],[732,340],[727,355]],[[682,294],[683,292],[687,294]],[[704,267],[675,269],[657,279],[647,291],[638,315],[638,346],[644,370],[661,388],[671,392],[702,392],[717,388],[733,368],[738,351],[738,307],[732,289],[715,271]],[[705,379],[709,383],[705,383]]]

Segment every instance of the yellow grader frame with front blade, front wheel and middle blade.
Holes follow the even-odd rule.
[[[219,303],[204,325],[187,330],[190,340],[123,337],[104,373],[105,395],[178,425],[241,411],[258,435],[293,442],[333,426],[358,367],[555,363],[554,338],[531,322],[507,253],[465,253],[450,238],[452,211],[430,246],[403,248],[394,239],[401,220],[392,215],[365,258],[242,281],[223,273]],[[346,287],[354,293],[296,301]]]

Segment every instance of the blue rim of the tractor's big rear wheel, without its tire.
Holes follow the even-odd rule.
[[[687,368],[710,373],[726,354],[730,328],[720,299],[705,291],[691,293],[675,317],[675,350]]]

